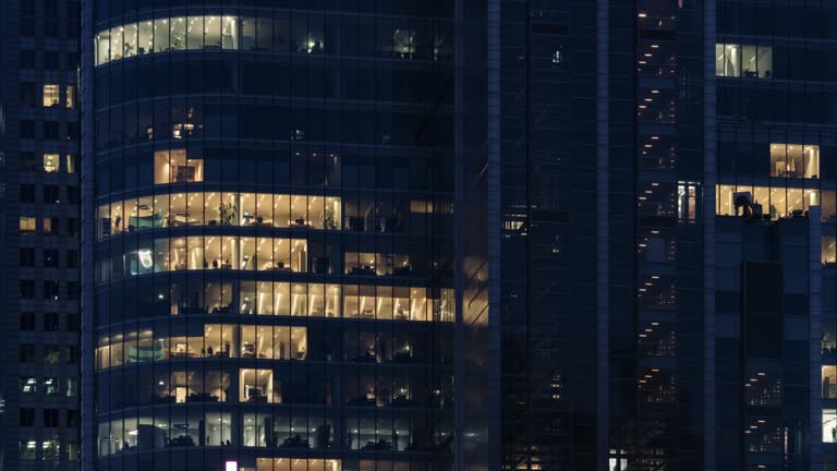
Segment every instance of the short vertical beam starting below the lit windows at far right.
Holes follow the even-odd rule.
[[[811,420],[811,471],[823,469],[823,427],[820,425],[823,413],[821,365],[822,351],[822,292],[823,292],[823,222],[820,206],[811,206],[808,212],[808,253],[809,253],[809,385]]]

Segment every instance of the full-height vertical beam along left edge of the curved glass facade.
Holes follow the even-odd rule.
[[[82,430],[81,452],[82,471],[93,471],[96,466],[96,402],[95,394],[95,364],[94,364],[94,301],[95,289],[95,226],[93,214],[95,206],[94,185],[94,135],[93,135],[93,38],[88,32],[93,31],[93,1],[82,1]]]

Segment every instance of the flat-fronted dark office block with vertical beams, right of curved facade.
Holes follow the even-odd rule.
[[[496,469],[835,469],[835,5],[499,4]]]

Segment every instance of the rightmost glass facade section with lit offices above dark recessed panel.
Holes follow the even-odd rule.
[[[717,454],[738,469],[833,471],[837,75],[822,64],[837,9],[716,11]]]

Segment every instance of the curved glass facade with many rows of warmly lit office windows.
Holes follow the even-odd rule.
[[[452,5],[94,3],[97,469],[449,469]]]

